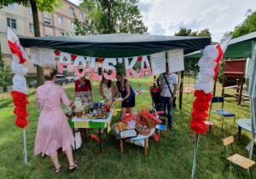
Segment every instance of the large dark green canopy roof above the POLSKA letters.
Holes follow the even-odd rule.
[[[26,48],[58,49],[75,55],[102,58],[150,55],[170,49],[184,49],[184,54],[204,49],[211,38],[151,36],[140,34],[104,34],[73,37],[20,38]]]

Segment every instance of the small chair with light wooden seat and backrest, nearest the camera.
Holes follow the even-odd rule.
[[[223,140],[223,144],[224,144],[224,159],[228,160],[229,163],[224,168],[222,174],[224,174],[224,171],[231,164],[231,165],[234,165],[236,167],[237,174],[238,174],[239,178],[241,178],[241,175],[240,175],[240,172],[239,172],[239,166],[244,168],[244,169],[249,169],[251,178],[253,178],[253,173],[252,173],[252,170],[251,170],[251,166],[254,165],[255,162],[253,160],[251,160],[251,159],[247,159],[247,158],[241,156],[240,154],[235,153],[234,148],[232,146],[233,142],[234,142],[234,136],[229,136],[229,137],[227,137],[227,138],[225,138]],[[227,158],[226,153],[227,153],[227,146],[229,144],[231,146],[233,155],[230,156],[229,158]]]

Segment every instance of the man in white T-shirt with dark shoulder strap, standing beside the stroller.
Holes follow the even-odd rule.
[[[177,78],[175,74],[169,72],[168,63],[166,62],[166,72],[160,74],[157,78],[157,84],[160,87],[160,102],[162,111],[166,112],[166,104],[168,110],[168,126],[173,130],[172,126],[172,101],[177,92]],[[166,115],[166,113],[164,113]]]

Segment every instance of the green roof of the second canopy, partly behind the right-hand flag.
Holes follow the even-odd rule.
[[[253,40],[256,39],[256,32],[249,33],[239,38],[230,40],[224,58],[252,58]],[[201,58],[201,51],[186,55],[186,58]]]

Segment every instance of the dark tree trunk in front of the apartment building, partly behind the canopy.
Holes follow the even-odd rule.
[[[30,0],[30,5],[32,8],[32,17],[33,17],[35,37],[40,37],[40,27],[39,27],[37,3],[35,0]],[[44,84],[43,67],[42,66],[37,66],[37,80],[38,80],[38,86]]]

